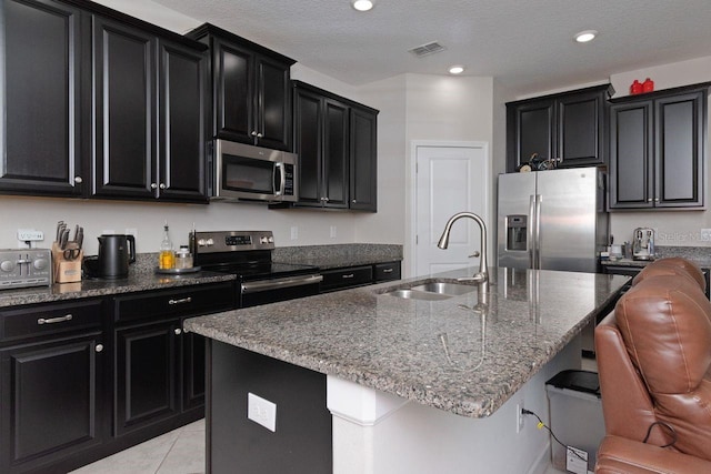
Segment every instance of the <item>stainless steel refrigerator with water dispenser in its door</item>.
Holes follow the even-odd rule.
[[[609,243],[597,168],[499,175],[499,266],[598,272]]]

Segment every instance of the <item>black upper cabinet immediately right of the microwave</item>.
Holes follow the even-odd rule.
[[[301,81],[294,87],[296,206],[377,210],[378,111]]]

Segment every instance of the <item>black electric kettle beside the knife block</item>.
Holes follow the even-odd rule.
[[[87,276],[100,279],[124,279],[129,264],[136,262],[136,238],[133,235],[100,235],[99,254],[83,261]]]

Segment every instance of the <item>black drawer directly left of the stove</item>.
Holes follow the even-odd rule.
[[[182,286],[113,299],[117,322],[193,316],[234,309],[233,282]]]

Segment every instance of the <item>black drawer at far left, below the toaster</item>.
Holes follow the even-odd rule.
[[[98,327],[102,323],[101,303],[80,300],[0,311],[0,341]]]

